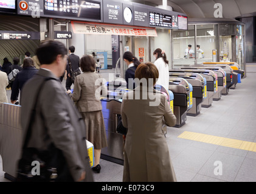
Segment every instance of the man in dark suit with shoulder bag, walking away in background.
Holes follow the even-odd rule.
[[[74,52],[75,52],[75,47],[74,46],[69,47],[69,56],[67,57],[67,67],[66,67],[66,70],[67,70],[66,89],[67,90],[70,90],[71,85],[74,84],[71,79],[72,78],[71,69],[72,71],[75,71],[80,67],[80,58],[79,56],[75,55]]]

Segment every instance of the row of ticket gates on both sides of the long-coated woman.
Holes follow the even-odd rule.
[[[199,115],[201,107],[210,107],[213,101],[228,95],[229,89],[235,89],[244,78],[244,71],[235,62],[204,62],[171,69],[169,75],[169,88],[156,85],[155,89],[166,96],[177,119],[175,127],[179,128],[185,124],[187,116]],[[108,96],[102,99],[102,112],[108,147],[102,149],[101,158],[123,164],[123,136],[117,133],[117,122],[122,96],[129,90],[122,81],[108,82],[107,85]]]

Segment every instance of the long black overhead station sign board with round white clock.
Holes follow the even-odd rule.
[[[129,1],[113,0],[18,0],[18,15],[61,18],[130,26],[181,29],[187,25],[183,13]],[[183,16],[184,18],[179,18]]]

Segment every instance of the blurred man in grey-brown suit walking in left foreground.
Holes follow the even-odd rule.
[[[21,93],[23,142],[37,102],[27,147],[48,150],[54,144],[61,150],[68,170],[58,181],[93,181],[86,152],[85,122],[59,80],[66,69],[66,47],[59,41],[46,41],[36,50],[36,55],[41,68],[24,84]]]

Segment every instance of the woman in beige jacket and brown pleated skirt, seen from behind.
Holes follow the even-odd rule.
[[[101,149],[107,146],[100,96],[106,96],[107,89],[102,84],[101,76],[94,73],[95,62],[92,56],[83,56],[80,59],[80,67],[83,73],[75,78],[72,99],[77,102],[77,108],[85,119],[87,139],[94,144],[95,165],[92,170],[100,173]]]

